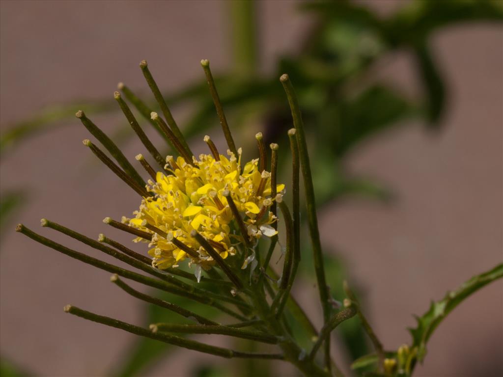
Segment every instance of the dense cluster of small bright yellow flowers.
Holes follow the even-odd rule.
[[[241,171],[240,151],[239,158],[230,151],[227,154],[220,155],[219,160],[201,154],[199,160],[193,158],[192,164],[183,157],[175,160],[168,156],[166,168],[173,174],[157,172],[156,182],[149,181],[147,189],[155,196],[142,200],[129,225],[152,234],[148,251],[152,266],[165,269],[189,257],[191,263],[211,267],[214,260],[191,237],[192,230],[203,235],[222,258],[234,255],[237,245],[244,245],[226,191],[243,218],[248,233],[245,236],[252,244],[262,235],[276,235],[270,225],[276,221],[269,211],[276,200],[271,198],[270,173],[259,171],[258,159],[246,163]],[[283,190],[284,184],[278,184],[279,196]],[[181,243],[186,250],[187,246],[191,249],[187,250],[189,254],[184,247],[178,247]]]

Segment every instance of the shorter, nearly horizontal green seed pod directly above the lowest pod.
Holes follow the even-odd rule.
[[[173,323],[156,323],[150,325],[153,332],[176,332],[187,334],[218,334],[228,335],[236,338],[255,340],[257,342],[278,344],[278,337],[263,332],[243,330],[235,327],[218,325],[179,325]]]

